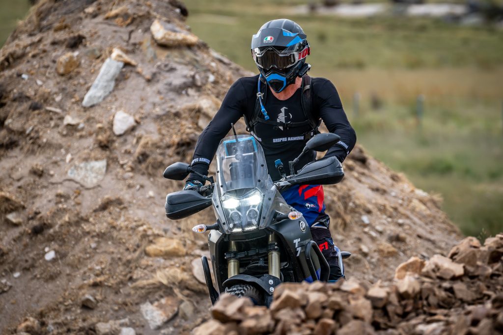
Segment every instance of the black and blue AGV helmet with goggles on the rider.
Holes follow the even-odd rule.
[[[251,54],[262,76],[278,93],[310,68],[306,63],[309,43],[302,28],[292,20],[264,24],[251,39]]]

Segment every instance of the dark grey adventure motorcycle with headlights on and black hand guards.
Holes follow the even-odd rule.
[[[290,171],[295,171],[302,155],[326,151],[339,139],[331,133],[313,136],[302,153],[289,162]],[[209,231],[216,288],[207,257],[201,261],[212,304],[220,292],[227,292],[269,306],[275,287],[282,282],[327,281],[330,268],[313,241],[305,218],[286,203],[279,190],[299,184],[336,184],[344,178],[339,160],[330,157],[313,161],[289,176],[277,160],[275,166],[282,178],[273,182],[260,143],[253,136],[234,132],[234,136],[220,142],[216,163],[216,181],[182,162],[170,165],[163,174],[167,179],[184,180],[192,172],[210,182],[199,192],[168,194],[165,210],[168,218],[176,220],[213,204],[216,223],[192,229],[196,233]],[[338,254],[344,276],[342,260],[351,254]]]

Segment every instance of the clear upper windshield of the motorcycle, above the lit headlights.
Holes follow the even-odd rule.
[[[237,142],[236,142],[237,138]],[[224,138],[217,149],[217,183],[221,194],[236,190],[260,188],[267,179],[264,151],[253,136],[237,135]],[[240,193],[240,194],[239,194]]]

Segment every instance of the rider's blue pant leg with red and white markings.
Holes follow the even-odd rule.
[[[339,279],[342,275],[342,260],[340,250],[330,234],[330,218],[325,213],[324,193],[322,185],[295,185],[281,191],[285,201],[300,211],[311,229],[314,242],[318,245],[328,265],[330,265],[330,279]],[[338,273],[339,272],[339,276]]]

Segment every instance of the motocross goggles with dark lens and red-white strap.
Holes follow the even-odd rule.
[[[298,47],[297,44],[283,50],[278,50],[278,47],[255,48],[251,53],[257,65],[266,72],[272,69],[284,72],[284,70],[294,66],[298,61],[309,55],[309,45],[306,45],[302,50],[295,51]]]

